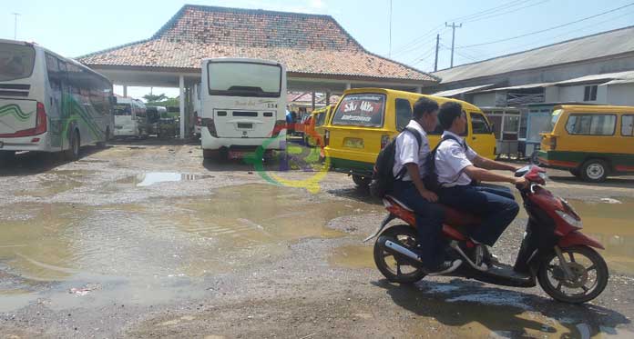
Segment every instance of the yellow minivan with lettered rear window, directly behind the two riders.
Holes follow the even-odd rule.
[[[496,137],[486,116],[475,105],[391,89],[355,88],[343,92],[325,127],[325,153],[330,157],[332,170],[353,175],[355,184],[370,184],[376,156],[409,124],[412,107],[420,97],[435,100],[438,105],[447,101],[460,103],[468,121],[465,140],[479,155],[494,158]],[[442,132],[438,126],[428,134],[430,147],[440,141]]]

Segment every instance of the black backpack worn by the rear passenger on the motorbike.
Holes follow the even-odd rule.
[[[421,135],[412,127],[405,127],[401,133],[404,133],[405,131],[414,135],[416,141],[418,142],[418,152],[420,152],[421,145],[423,145],[423,138],[421,138]],[[393,168],[395,155],[396,138],[385,145],[376,157],[376,163],[374,164],[372,174],[372,183],[370,184],[370,193],[377,198],[383,198],[385,194],[391,193],[394,188],[394,181],[402,179],[407,172],[407,168],[403,167],[401,171],[394,176]]]

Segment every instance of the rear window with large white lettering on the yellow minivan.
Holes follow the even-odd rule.
[[[346,95],[332,117],[332,125],[381,127],[385,95]]]

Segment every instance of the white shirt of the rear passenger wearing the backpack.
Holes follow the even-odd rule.
[[[416,164],[418,165],[418,174],[422,179],[424,177],[424,164],[426,163],[427,155],[430,152],[427,134],[424,133],[423,127],[414,120],[410,120],[407,127],[414,128],[418,131],[418,134],[421,135],[421,142],[423,145],[420,145],[419,151],[418,140],[416,140],[416,137],[410,132],[405,131],[398,135],[396,137],[396,150],[394,152],[394,167],[392,168],[392,172],[395,177],[405,164]],[[409,173],[405,172],[401,180],[412,181],[412,178]]]

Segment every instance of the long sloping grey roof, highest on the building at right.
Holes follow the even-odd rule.
[[[634,26],[435,72],[441,85],[483,76],[634,53]]]

